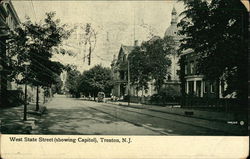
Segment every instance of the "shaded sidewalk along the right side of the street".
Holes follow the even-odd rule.
[[[244,132],[247,131],[247,115],[243,114],[211,112],[169,106],[161,107],[137,103],[130,103],[130,105],[128,106],[127,102],[109,101],[107,103],[119,105],[126,108],[137,108],[138,110],[134,111],[137,111],[139,113],[141,112],[140,109],[144,109],[143,112],[149,115],[151,114],[167,120],[174,120],[189,125],[209,128],[218,131],[232,132],[234,134],[245,134]]]

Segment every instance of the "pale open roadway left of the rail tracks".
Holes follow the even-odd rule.
[[[48,114],[39,120],[38,134],[153,134],[154,131],[135,126],[106,113],[92,109],[99,103],[57,95],[47,106]]]

